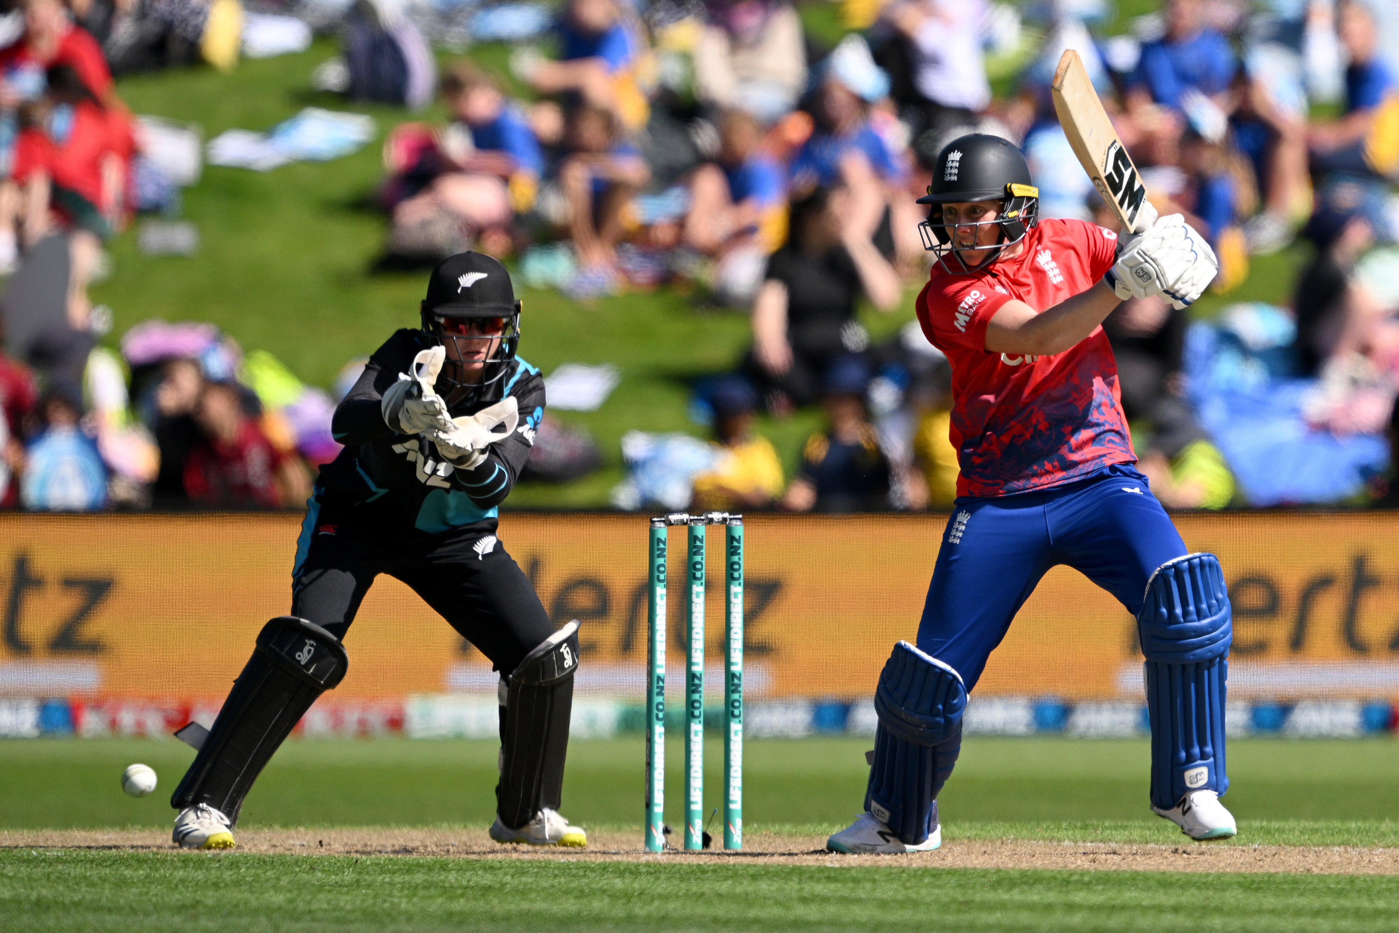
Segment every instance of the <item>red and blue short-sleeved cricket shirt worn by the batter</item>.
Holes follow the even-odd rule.
[[[1044,312],[1091,288],[1112,267],[1116,234],[1077,220],[1042,220],[1024,250],[967,274],[933,274],[918,297],[923,334],[953,368],[950,438],[957,495],[1042,490],[1114,463],[1136,463],[1102,327],[1042,357],[986,351],[986,325],[1007,301]]]

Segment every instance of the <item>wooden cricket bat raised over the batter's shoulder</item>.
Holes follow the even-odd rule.
[[[1142,217],[1146,186],[1142,185],[1142,176],[1132,164],[1132,157],[1122,147],[1118,131],[1112,129],[1112,122],[1102,109],[1098,92],[1093,90],[1083,60],[1073,49],[1065,50],[1059,59],[1049,92],[1053,97],[1053,109],[1059,115],[1059,124],[1069,137],[1069,145],[1079,157],[1083,171],[1122,221],[1122,229],[1140,234],[1146,228],[1142,222],[1146,220]]]

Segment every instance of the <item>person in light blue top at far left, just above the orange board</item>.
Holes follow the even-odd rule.
[[[83,410],[62,393],[39,403],[42,432],[24,457],[20,499],[24,508],[48,512],[88,512],[106,505],[106,470],[97,443],[83,434]]]

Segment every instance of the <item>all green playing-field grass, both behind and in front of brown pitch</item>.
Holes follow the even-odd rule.
[[[754,740],[753,829],[830,832],[859,810],[862,739]],[[0,829],[168,827],[168,796],[193,753],[173,741],[0,741]],[[679,804],[680,746],[667,747]],[[706,750],[718,803],[718,743]],[[1137,740],[970,739],[942,796],[949,839],[1184,842],[1146,809]],[[150,797],[122,795],[134,761]],[[1396,846],[1399,743],[1237,740],[1224,845]],[[294,741],[249,796],[242,825],[484,827],[490,741]],[[642,743],[578,741],[564,810],[592,828],[635,828]],[[669,818],[677,824],[679,811]],[[1399,929],[1399,877],[838,867],[246,852],[0,849],[3,930],[381,929]]]

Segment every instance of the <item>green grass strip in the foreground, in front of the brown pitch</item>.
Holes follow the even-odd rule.
[[[0,853],[13,930],[1395,929],[1399,878]]]

